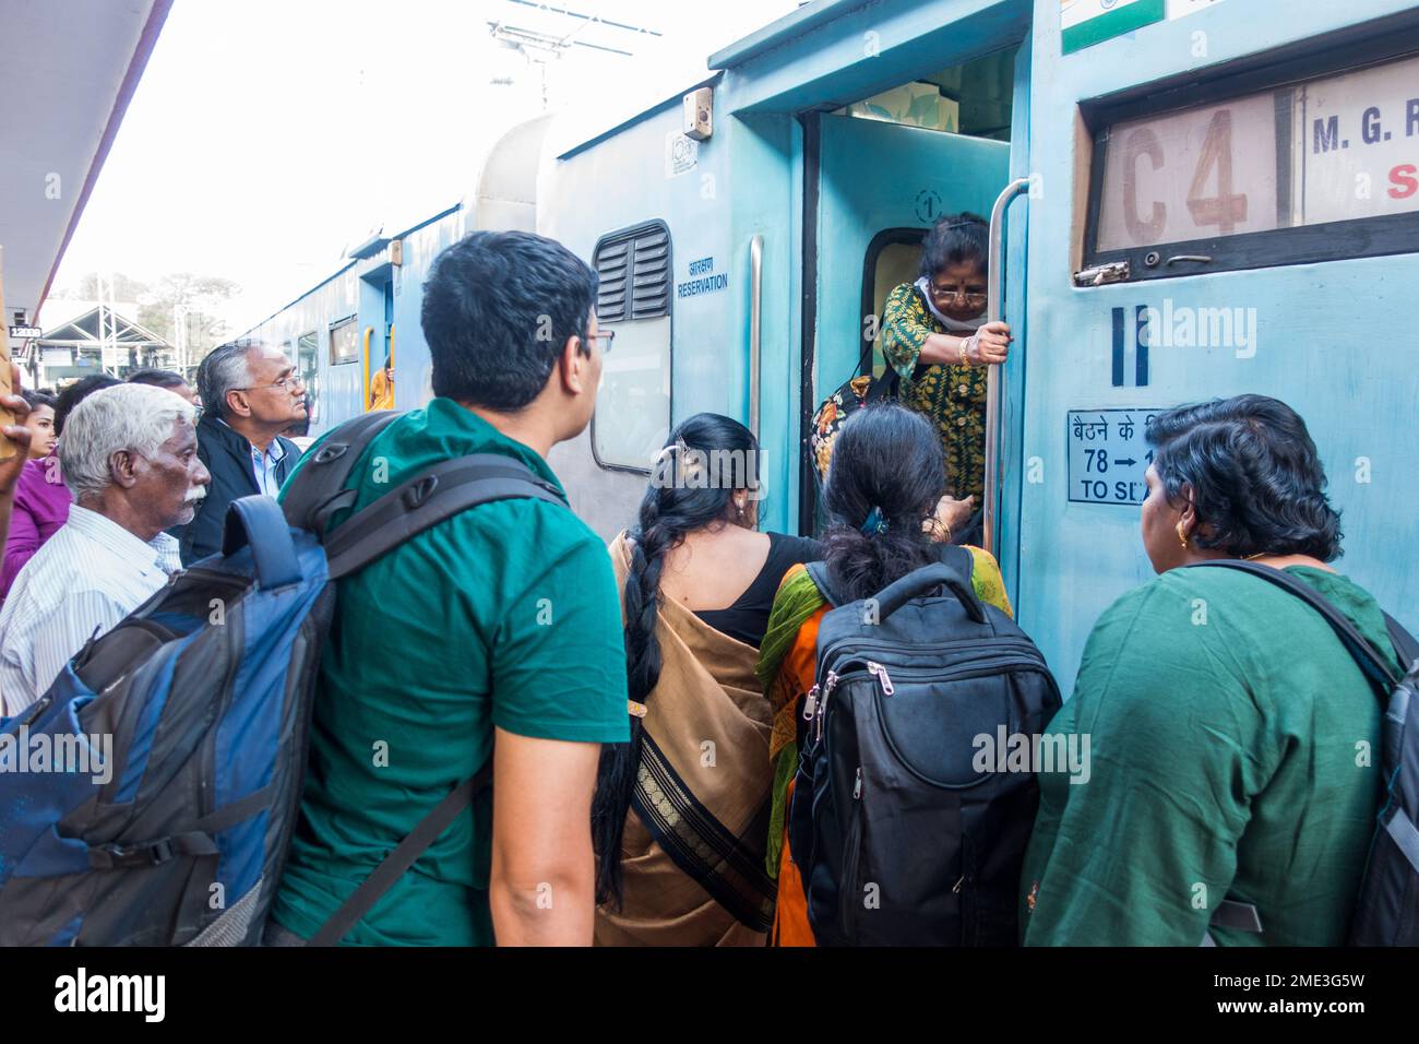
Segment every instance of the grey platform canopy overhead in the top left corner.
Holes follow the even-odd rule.
[[[33,321],[172,0],[0,3],[0,247]]]

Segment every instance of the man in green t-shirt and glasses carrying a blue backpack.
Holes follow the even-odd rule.
[[[352,510],[471,453],[558,484],[546,455],[590,422],[600,382],[595,301],[595,273],[539,236],[478,232],[440,254],[421,317],[436,398],[356,462]],[[473,814],[342,942],[589,945],[596,764],[627,723],[610,558],[561,504],[482,504],[339,581],[267,943],[312,937],[491,757]]]

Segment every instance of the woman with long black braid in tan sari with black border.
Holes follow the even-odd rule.
[[[602,946],[756,946],[773,916],[753,666],[779,581],[822,547],[756,530],[758,450],[729,418],[683,422],[610,547],[631,740],[603,750],[592,804]]]

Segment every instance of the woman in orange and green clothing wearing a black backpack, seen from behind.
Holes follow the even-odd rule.
[[[921,565],[941,560],[951,501],[941,493],[941,443],[931,425],[891,402],[868,406],[843,425],[833,447],[823,506],[829,577],[840,602],[870,598]],[[971,554],[971,587],[982,602],[1010,614],[1000,567],[989,551]],[[813,687],[817,628],[827,599],[803,567],[789,570],[763,636],[759,682],[769,696],[773,733],[773,811],[766,868],[778,879],[772,945],[813,946],[803,881],[789,851],[786,811],[803,729],[803,696]]]

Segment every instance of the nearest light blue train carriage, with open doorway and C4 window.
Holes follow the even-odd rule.
[[[993,213],[990,544],[1060,678],[1152,575],[1148,415],[1239,392],[1307,419],[1344,568],[1419,625],[1416,33],[1398,0],[819,0],[712,55],[549,148],[538,229],[617,331],[553,453],[573,504],[612,535],[671,422],[717,410],[761,437],[765,527],[812,531],[819,401],[922,232]]]

